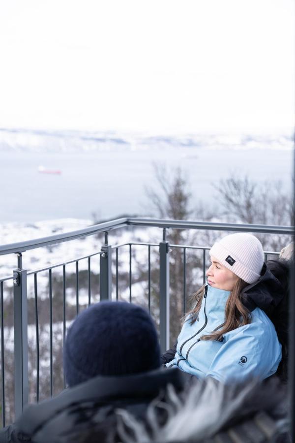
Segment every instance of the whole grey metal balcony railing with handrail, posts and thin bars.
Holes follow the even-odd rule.
[[[162,241],[159,243],[128,242],[118,245],[109,245],[109,232],[126,226],[137,227],[157,227],[163,230]],[[100,300],[112,299],[112,278],[115,280],[115,296],[118,300],[118,253],[122,247],[129,248],[129,301],[132,301],[132,248],[141,246],[147,248],[148,253],[148,309],[151,304],[151,248],[158,248],[159,266],[159,333],[160,346],[162,350],[169,348],[169,322],[170,322],[170,252],[173,249],[181,250],[183,257],[183,313],[186,312],[186,258],[189,250],[201,251],[203,257],[203,282],[205,282],[205,258],[209,246],[174,245],[167,240],[167,229],[193,229],[193,230],[217,230],[254,232],[264,234],[285,234],[293,235],[294,229],[289,226],[265,226],[235,223],[212,223],[200,221],[174,221],[156,219],[122,218],[114,221],[100,223],[85,229],[52,235],[40,239],[14,243],[0,246],[0,255],[17,254],[17,268],[13,271],[13,277],[0,279],[0,328],[1,328],[1,400],[2,400],[2,424],[5,425],[5,371],[4,371],[4,325],[3,325],[3,284],[13,279],[13,310],[14,310],[14,409],[15,416],[18,417],[29,400],[29,376],[28,376],[28,294],[27,277],[34,279],[34,312],[35,312],[35,335],[36,335],[36,400],[39,401],[39,376],[40,376],[40,349],[39,349],[39,319],[38,319],[38,275],[48,272],[49,289],[49,366],[50,366],[50,395],[53,395],[53,276],[55,268],[62,269],[62,338],[63,342],[66,334],[66,266],[75,264],[75,287],[76,287],[76,314],[79,313],[79,263],[87,260],[88,278],[88,305],[91,303],[91,260],[99,257],[99,291]],[[22,254],[25,251],[43,248],[59,243],[68,242],[74,239],[83,238],[89,235],[104,233],[104,243],[100,251],[91,253],[83,257],[76,257],[70,261],[64,261],[41,269],[27,271],[23,269]],[[112,274],[112,257],[115,252],[116,272]],[[278,252],[266,251],[268,254],[278,254]],[[65,386],[65,382],[64,382]]]

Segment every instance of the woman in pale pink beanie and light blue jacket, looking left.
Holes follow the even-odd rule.
[[[283,286],[251,234],[224,237],[213,245],[210,257],[207,284],[195,294],[197,304],[162,363],[198,378],[265,379],[276,372],[282,352],[264,311],[278,305]]]

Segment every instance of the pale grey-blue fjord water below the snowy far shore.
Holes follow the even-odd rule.
[[[254,180],[281,180],[291,193],[293,152],[290,149],[175,147],[90,152],[2,151],[0,221],[33,222],[57,218],[99,219],[121,214],[153,215],[145,187],[159,190],[153,163],[181,167],[192,202],[218,204],[212,183],[246,174]],[[38,171],[60,170],[61,174]],[[160,190],[159,190],[160,193]]]

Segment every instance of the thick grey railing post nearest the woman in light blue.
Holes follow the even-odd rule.
[[[162,352],[169,349],[170,336],[170,295],[169,295],[169,243],[166,241],[166,229],[163,229],[163,241],[160,248],[160,348]]]

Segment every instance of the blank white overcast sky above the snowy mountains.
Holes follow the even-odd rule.
[[[0,127],[294,125],[293,0],[2,0]]]

